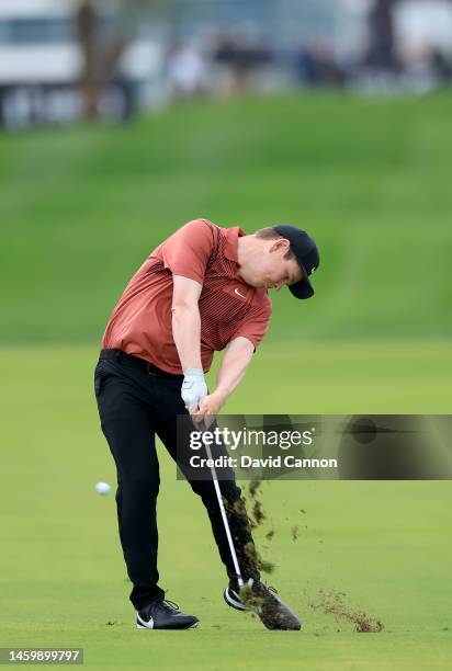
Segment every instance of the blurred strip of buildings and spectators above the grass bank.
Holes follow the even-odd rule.
[[[178,99],[452,78],[450,0],[2,0],[0,123],[113,121]]]

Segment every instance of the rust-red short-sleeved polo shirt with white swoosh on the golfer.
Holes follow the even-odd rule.
[[[203,285],[201,361],[206,373],[214,352],[242,336],[255,348],[265,334],[271,317],[267,288],[246,284],[238,274],[238,227],[221,228],[207,219],[182,226],[155,249],[132,277],[113,310],[102,348],[140,356],[168,373],[181,374],[172,337],[172,275]]]

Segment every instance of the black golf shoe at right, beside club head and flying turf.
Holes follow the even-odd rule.
[[[275,590],[259,580],[250,579],[242,588],[231,580],[223,596],[231,609],[255,612],[268,629],[297,632],[302,628],[295,613],[281,601]]]

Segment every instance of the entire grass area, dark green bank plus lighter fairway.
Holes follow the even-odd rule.
[[[291,98],[0,137],[0,646],[83,647],[105,669],[450,668],[449,481],[263,484],[269,582],[305,623],[274,633],[223,603],[207,519],[161,446],[161,584],[202,624],[136,632],[114,500],[93,489],[115,474],[92,368],[125,282],[179,225],[292,221],[318,238],[317,296],[275,296],[225,410],[450,413],[451,112]],[[338,599],[384,630],[336,619]]]

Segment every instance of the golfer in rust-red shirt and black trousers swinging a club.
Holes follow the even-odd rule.
[[[296,298],[309,298],[314,291],[308,276],[318,264],[314,240],[296,227],[278,225],[246,235],[239,227],[221,228],[195,219],[151,252],[110,317],[94,388],[102,431],[117,469],[120,538],[138,628],[189,629],[199,624],[194,615],[166,600],[159,587],[155,437],[184,470],[177,450],[177,417],[184,416],[193,429],[204,416],[219,412],[265,334],[269,289],[289,285]],[[204,374],[214,352],[225,348],[216,387],[210,393]],[[226,603],[239,611],[256,610],[270,629],[300,629],[295,614],[260,581],[234,473],[219,481],[219,488],[240,575],[255,600],[245,599],[239,590],[212,477],[188,479],[207,511],[226,568]],[[185,570],[183,554],[181,545],[174,558],[181,570]]]

